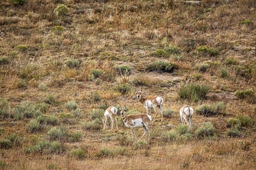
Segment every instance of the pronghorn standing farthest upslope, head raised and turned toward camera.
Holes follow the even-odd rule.
[[[149,108],[153,108],[154,112],[156,113],[154,120],[156,120],[156,116],[158,114],[157,112],[157,107],[159,107],[160,109],[160,113],[161,113],[161,117],[162,117],[162,103],[164,102],[164,100],[162,99],[162,97],[159,96],[147,96],[147,97],[142,97],[142,91],[136,91],[135,94],[137,95],[137,99],[139,99],[139,101],[143,104],[143,106],[146,108],[146,112],[148,114],[148,109]],[[154,122],[154,120],[152,122]],[[162,119],[161,119],[162,122]]]

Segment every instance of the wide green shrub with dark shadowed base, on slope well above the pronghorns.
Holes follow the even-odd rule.
[[[177,65],[169,63],[168,61],[154,61],[146,67],[146,71],[157,71],[158,73],[168,72],[171,73],[177,69]]]

